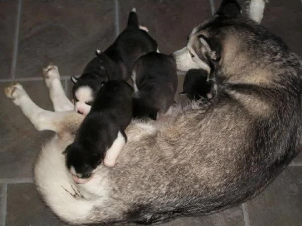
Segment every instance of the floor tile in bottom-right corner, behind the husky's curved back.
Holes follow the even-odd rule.
[[[302,225],[302,167],[287,167],[272,184],[247,202],[252,226]]]

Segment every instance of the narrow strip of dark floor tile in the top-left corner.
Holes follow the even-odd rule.
[[[11,77],[18,0],[0,2],[0,78]]]

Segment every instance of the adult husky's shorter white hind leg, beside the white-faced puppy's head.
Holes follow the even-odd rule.
[[[47,67],[43,68],[42,71],[46,86],[49,89],[49,98],[54,111],[73,110],[74,106],[66,97],[63,90],[58,67],[50,63]]]

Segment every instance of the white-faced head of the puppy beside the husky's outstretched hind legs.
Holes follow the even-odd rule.
[[[72,88],[74,109],[79,114],[87,115],[97,93],[106,81],[95,74],[84,74],[78,79],[72,76],[71,80],[74,82]]]

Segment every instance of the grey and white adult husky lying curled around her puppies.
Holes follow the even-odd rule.
[[[211,213],[259,193],[301,150],[301,61],[279,38],[242,18],[237,2],[223,1],[174,56],[185,71],[211,65],[216,96],[173,111],[165,123],[132,122],[116,166],[101,165],[86,184],[72,181],[61,154],[83,116],[72,104],[60,112],[63,98],[52,99],[56,112],[46,111],[20,84],[6,88],[38,130],[57,134],[42,148],[34,176],[62,220],[153,223]],[[46,76],[49,87],[56,74]]]

